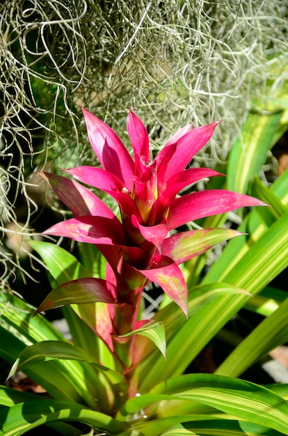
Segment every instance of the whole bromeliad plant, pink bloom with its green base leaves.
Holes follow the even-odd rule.
[[[43,423],[65,435],[83,434],[79,423],[95,434],[122,436],[222,435],[227,428],[230,435],[266,431],[288,435],[288,404],[273,390],[222,375],[179,375],[189,363],[189,352],[186,356],[182,352],[185,342],[190,344],[188,336],[198,331],[193,314],[207,305],[207,320],[219,314],[215,325],[221,328],[225,312],[217,305],[215,312],[211,300],[213,304],[213,299],[223,295],[248,299],[249,293],[228,280],[208,280],[188,290],[179,267],[214,244],[243,233],[227,228],[173,231],[195,219],[265,204],[225,189],[178,196],[202,178],[220,176],[209,169],[186,168],[218,123],[184,127],[152,160],[147,131],[130,111],[127,130],[132,159],[109,126],[86,109],[83,115],[102,168],[81,166],[67,172],[110,194],[120,215],[114,215],[79,182],[42,173],[74,215],[45,234],[85,243],[83,258],[89,260],[82,265],[55,244],[32,243],[56,282],[35,314],[64,306],[72,343],[42,316],[27,320],[23,315],[26,306],[12,297],[22,310],[13,313],[10,324],[17,325],[25,341],[1,327],[3,341],[10,341],[13,348],[7,360],[19,355],[10,375],[22,369],[51,398],[39,401],[31,394],[3,388],[0,435],[21,435]],[[167,297],[154,320],[145,320],[142,295],[151,282],[161,286]],[[8,322],[8,309],[4,314]],[[164,356],[161,359],[158,349]]]

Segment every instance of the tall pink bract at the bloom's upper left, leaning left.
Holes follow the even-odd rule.
[[[109,125],[106,125],[104,121],[87,109],[82,108],[82,111],[86,121],[88,137],[99,162],[104,169],[108,169],[115,176],[118,176],[120,180],[123,180],[128,189],[131,190],[134,162],[127,148]]]

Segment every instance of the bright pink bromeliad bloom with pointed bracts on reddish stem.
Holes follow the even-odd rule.
[[[113,351],[117,336],[143,325],[144,321],[139,322],[137,316],[141,293],[148,283],[158,283],[187,314],[188,290],[178,265],[207,251],[219,240],[209,243],[209,235],[215,229],[175,235],[170,235],[170,231],[195,219],[264,203],[217,189],[178,195],[202,178],[219,176],[211,169],[186,169],[193,156],[209,141],[218,123],[194,129],[187,125],[152,160],[147,131],[132,110],[127,118],[127,130],[134,159],[108,125],[87,109],[83,109],[83,116],[102,168],[79,166],[67,172],[115,198],[121,219],[78,182],[42,173],[74,214],[74,218],[52,226],[45,234],[96,244],[105,256],[106,280],[78,279],[63,286],[63,292],[71,295],[69,304],[74,302],[72,290],[80,291],[82,296],[86,293],[81,303],[107,303],[108,309],[101,309],[99,313],[96,332]],[[221,230],[222,240],[239,234]],[[43,303],[38,311],[51,309],[58,301],[47,297]]]

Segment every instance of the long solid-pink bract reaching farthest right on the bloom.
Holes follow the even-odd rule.
[[[257,198],[221,189],[193,192],[175,198],[168,212],[169,230],[195,219],[218,215],[245,206],[266,206]]]

